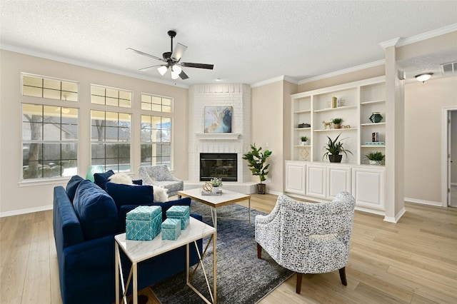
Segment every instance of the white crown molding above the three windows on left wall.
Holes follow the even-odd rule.
[[[16,52],[16,53],[19,53],[19,54],[35,56],[35,57],[39,57],[39,58],[42,58],[42,59],[49,59],[49,60],[53,60],[53,61],[59,61],[59,62],[62,62],[64,64],[74,64],[75,66],[83,66],[83,67],[89,68],[89,69],[95,69],[95,70],[104,71],[104,72],[108,72],[108,73],[128,76],[128,77],[131,77],[131,78],[138,78],[138,79],[141,79],[141,80],[152,81],[152,82],[156,82],[156,83],[162,83],[162,84],[166,84],[166,85],[169,85],[169,86],[176,86],[176,87],[179,87],[179,88],[189,88],[189,86],[181,84],[181,83],[174,83],[172,81],[166,81],[166,80],[159,79],[159,78],[154,78],[154,77],[141,76],[139,74],[134,74],[134,73],[131,73],[129,71],[122,71],[122,70],[119,70],[119,69],[113,69],[113,68],[110,68],[108,66],[99,66],[99,65],[96,65],[96,64],[91,64],[91,63],[86,62],[86,61],[79,61],[79,60],[75,60],[75,59],[69,59],[69,58],[66,58],[66,57],[49,55],[49,54],[46,54],[46,53],[43,53],[43,52],[40,52],[40,51],[32,51],[30,49],[21,48],[19,46],[12,46],[10,44],[1,44],[0,45],[0,49],[3,49],[5,51],[13,51],[13,52]]]

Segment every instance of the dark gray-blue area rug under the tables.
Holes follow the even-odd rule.
[[[207,215],[204,222],[212,226],[209,206],[192,201],[191,213]],[[279,266],[263,252],[257,258],[254,240],[254,218],[259,211],[251,211],[251,225],[248,225],[248,208],[232,204],[218,208],[217,233],[217,302],[226,304],[257,303],[278,285],[293,275],[291,270]],[[241,218],[245,221],[221,217]],[[204,239],[204,248],[209,238]],[[206,274],[212,283],[212,248],[204,258]],[[192,280],[192,285],[203,295],[210,298],[201,268]],[[212,285],[211,285],[212,287]],[[153,293],[163,304],[204,303],[186,285],[186,273],[179,273],[152,287]]]

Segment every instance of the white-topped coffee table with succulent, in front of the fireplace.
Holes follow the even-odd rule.
[[[237,203],[241,201],[248,201],[248,223],[251,225],[251,196],[248,194],[238,193],[229,190],[223,190],[220,196],[209,196],[201,194],[202,188],[195,188],[190,190],[179,191],[178,196],[182,196],[199,201],[211,207],[211,218],[213,218],[214,228],[217,229],[217,208]],[[232,218],[239,220],[238,218]]]

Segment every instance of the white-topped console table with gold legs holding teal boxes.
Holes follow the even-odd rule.
[[[199,253],[199,263],[197,264],[195,270],[201,265],[202,270],[204,271],[204,275],[206,278],[207,287],[209,293],[211,295],[211,301],[202,295],[199,290],[197,290],[193,285],[191,285],[191,275],[190,275],[190,265],[189,265],[189,245],[194,243],[195,247],[197,247],[196,240],[201,238],[205,238],[206,236],[211,235],[211,239],[213,240],[213,292],[211,293],[211,288],[209,285],[208,277],[206,276],[205,269],[203,265],[201,265],[201,260],[204,258],[204,255],[200,255]],[[115,243],[115,267],[116,267],[116,304],[119,304],[119,278],[121,279],[122,283],[122,292],[123,292],[123,300],[124,303],[127,303],[126,298],[126,290],[128,290],[128,286],[130,284],[130,280],[133,276],[133,300],[134,304],[138,304],[138,280],[137,280],[137,265],[142,260],[148,260],[149,258],[153,258],[156,255],[161,255],[162,253],[166,253],[170,250],[175,248],[179,248],[182,245],[186,245],[186,283],[189,287],[194,290],[194,292],[199,295],[206,303],[214,303],[217,302],[217,288],[216,288],[216,228],[213,228],[206,223],[203,223],[195,218],[190,218],[189,226],[185,230],[181,230],[181,235],[177,240],[162,240],[162,233],[154,238],[154,240],[126,240],[126,233],[121,233],[114,236],[116,240]],[[211,244],[211,239],[208,241],[206,248],[204,248],[204,253],[206,253],[206,249],[208,249],[209,245]],[[129,278],[127,282],[124,284],[124,276],[120,272],[121,270],[121,259],[120,259],[120,250],[124,251],[127,255],[129,260],[131,260],[131,269],[129,273]],[[197,252],[199,250],[197,249]]]

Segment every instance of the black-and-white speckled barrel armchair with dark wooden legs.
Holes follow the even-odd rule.
[[[256,216],[257,258],[262,248],[279,265],[297,273],[296,293],[303,273],[339,270],[347,285],[345,266],[356,201],[341,192],[331,202],[306,203],[279,196],[267,216]]]

